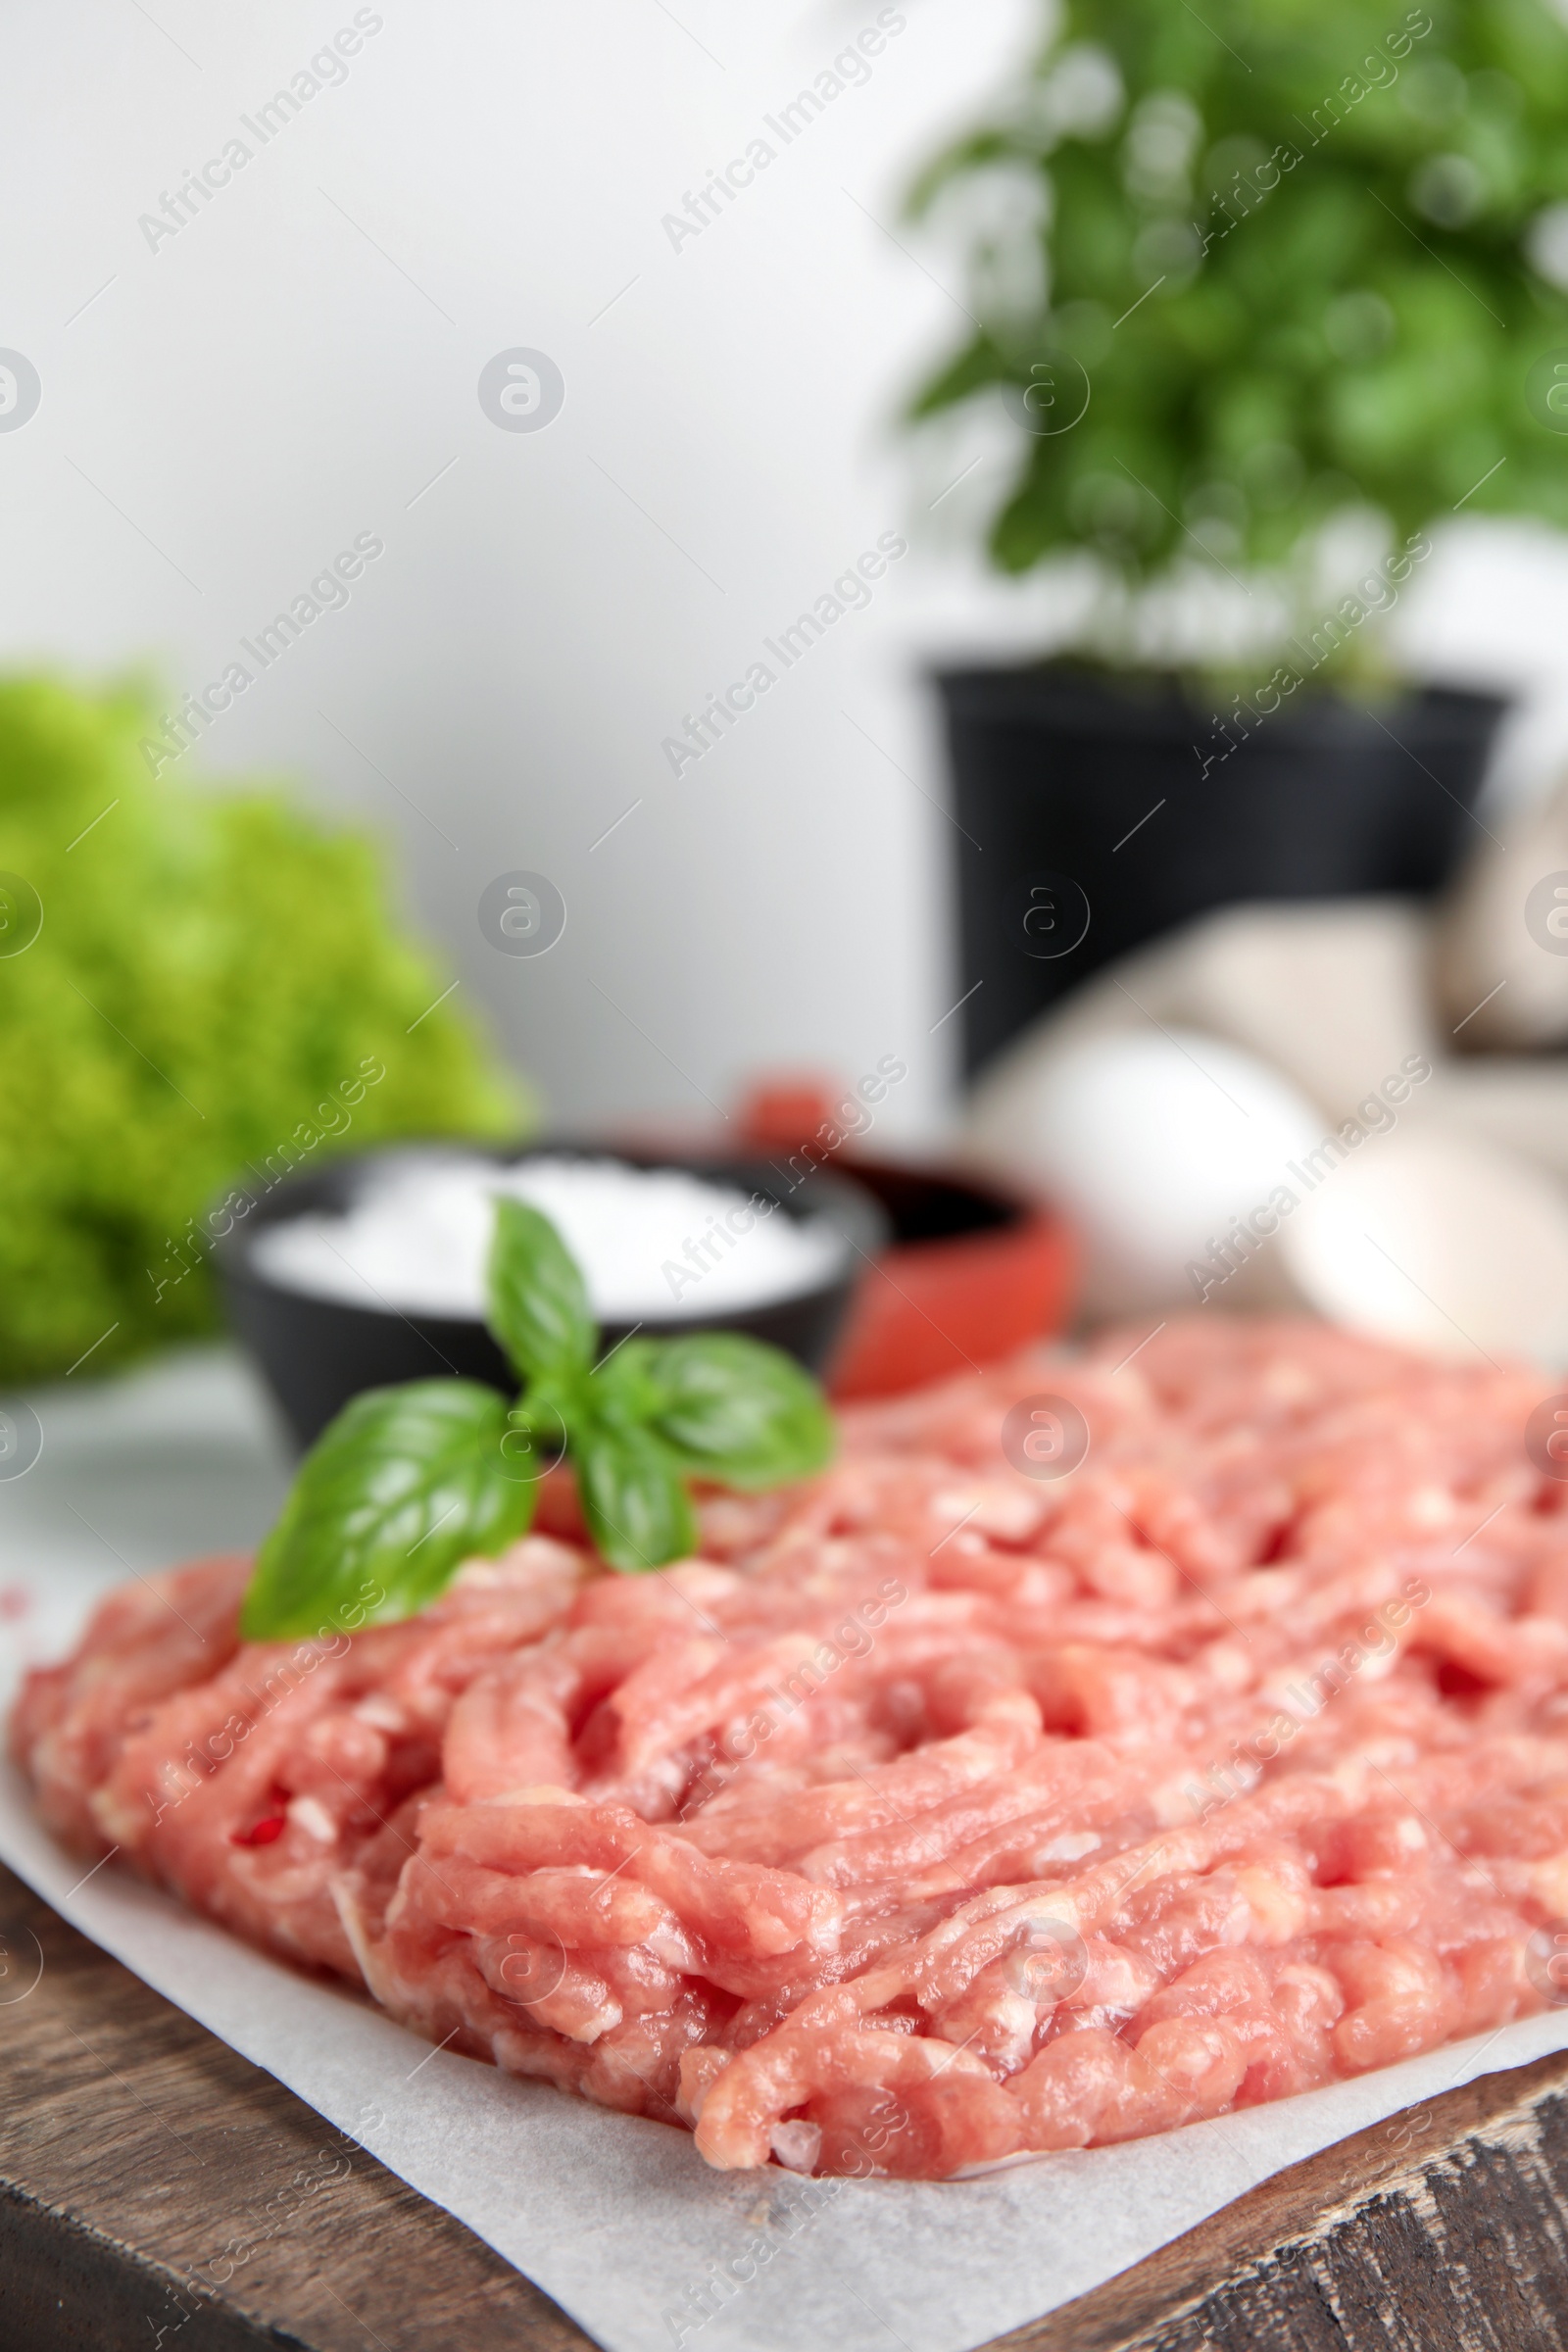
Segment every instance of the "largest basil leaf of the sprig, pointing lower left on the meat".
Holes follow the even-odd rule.
[[[371,1388],[306,1454],[256,1555],[240,1632],[282,1642],[414,1616],[458,1562],[520,1536],[536,1494],[527,1435],[491,1388]]]

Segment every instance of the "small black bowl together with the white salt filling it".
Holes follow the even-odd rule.
[[[214,1258],[235,1334],[301,1446],[367,1388],[461,1374],[515,1392],[484,1327],[498,1195],[557,1225],[604,1352],[632,1331],[748,1331],[820,1371],[889,1240],[851,1178],[766,1160],[430,1143],[284,1176],[242,1216],[226,1209]]]

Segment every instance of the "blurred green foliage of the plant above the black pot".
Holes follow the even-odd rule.
[[[912,198],[957,228],[976,320],[912,414],[1001,390],[1020,426],[997,569],[1088,557],[1079,644],[1138,661],[1173,574],[1269,581],[1295,628],[1356,508],[1401,539],[1455,510],[1568,524],[1561,9],[1044,16]]]

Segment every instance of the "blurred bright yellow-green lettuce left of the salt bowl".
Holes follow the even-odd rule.
[[[200,757],[132,687],[0,680],[7,1388],[216,1329],[212,1242],[292,1169],[527,1122],[378,847]]]

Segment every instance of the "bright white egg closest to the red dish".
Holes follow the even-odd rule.
[[[1293,1185],[1286,1162],[1324,1136],[1324,1115],[1305,1094],[1253,1054],[1197,1030],[1150,1028],[1072,1047],[1030,1070],[1006,1112],[1016,1171],[1084,1237],[1091,1315],[1197,1305],[1187,1268],[1211,1263],[1234,1218]],[[1251,1272],[1246,1249],[1234,1258]],[[1244,1279],[1211,1291],[1211,1303],[1229,1305],[1232,1287],[1241,1303]]]

